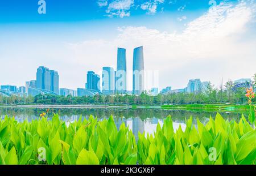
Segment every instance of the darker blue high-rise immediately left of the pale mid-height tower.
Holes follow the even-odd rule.
[[[100,91],[100,76],[95,74],[95,72],[93,71],[88,71],[87,83],[85,84],[85,88]]]

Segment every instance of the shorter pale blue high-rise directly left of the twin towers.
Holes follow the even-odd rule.
[[[115,71],[112,67],[103,67],[102,93],[105,95],[113,95],[115,93]]]

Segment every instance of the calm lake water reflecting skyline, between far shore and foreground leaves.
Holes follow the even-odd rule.
[[[40,108],[0,108],[0,118],[5,118],[5,115],[9,117],[15,117],[18,122],[28,119],[38,119],[39,114],[45,112],[46,109]],[[216,116],[217,111],[205,111],[205,110],[165,110],[165,109],[126,109],[126,108],[88,108],[88,109],[74,109],[74,108],[63,108],[63,109],[50,109],[48,117],[52,116],[53,113],[58,113],[60,118],[65,122],[73,122],[78,120],[80,117],[88,118],[90,114],[98,119],[109,118],[113,115],[117,128],[122,123],[129,126],[130,130],[133,131],[135,138],[138,139],[138,132],[145,131],[146,134],[154,134],[156,125],[160,123],[163,125],[163,119],[168,115],[171,115],[172,121],[174,122],[174,130],[179,125],[184,130],[185,118],[193,117],[193,122],[196,122],[196,118],[199,118],[202,123],[207,123],[210,116],[213,118]],[[234,119],[239,121],[241,114],[243,113],[247,117],[247,112],[219,112],[225,119]],[[196,125],[196,123],[194,123]]]

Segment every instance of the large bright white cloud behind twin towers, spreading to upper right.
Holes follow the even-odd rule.
[[[224,80],[247,77],[255,72],[255,36],[247,36],[247,24],[253,21],[255,3],[236,5],[222,3],[187,23],[180,33],[161,32],[147,27],[121,27],[119,35],[110,41],[86,41],[74,46],[80,62],[89,55],[97,63],[115,65],[113,53],[118,46],[127,49],[127,66],[131,68],[133,48],[144,46],[146,70],[160,70],[160,87],[182,88],[188,79],[201,78],[218,84]],[[185,17],[183,17],[185,19]],[[101,53],[93,48],[101,48]],[[95,53],[97,53],[95,55]],[[105,60],[103,61],[102,58]],[[245,65],[244,63],[250,63]],[[96,66],[97,67],[97,66]],[[99,69],[101,66],[98,66]],[[168,75],[168,76],[167,76]],[[179,79],[177,79],[179,75]],[[130,79],[131,80],[131,79]]]

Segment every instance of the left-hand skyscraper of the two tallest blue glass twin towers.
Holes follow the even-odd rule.
[[[126,93],[126,49],[117,49],[117,72],[115,74],[115,90],[117,93]]]

